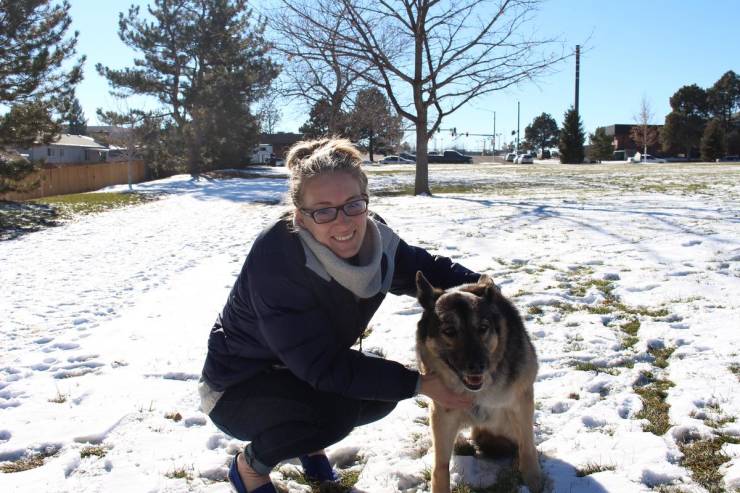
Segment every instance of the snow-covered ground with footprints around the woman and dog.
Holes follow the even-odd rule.
[[[0,242],[0,466],[48,455],[0,473],[0,491],[229,490],[227,463],[243,444],[199,411],[196,382],[251,241],[286,209],[275,205],[284,172],[140,184],[166,195]],[[434,197],[393,193],[412,183],[411,167],[369,172],[371,208],[404,239],[490,273],[527,318],[552,491],[704,491],[679,444],[740,436],[740,167],[438,165]],[[413,365],[419,313],[389,296],[363,346]],[[667,365],[661,348],[675,348]],[[674,384],[664,434],[643,431],[645,372]],[[357,491],[428,491],[421,404],[403,401],[329,448],[359,471]],[[732,491],[740,445],[724,453]],[[486,485],[502,467],[460,456],[453,479]],[[603,471],[578,477],[585,468]],[[295,470],[273,477],[307,491]]]

